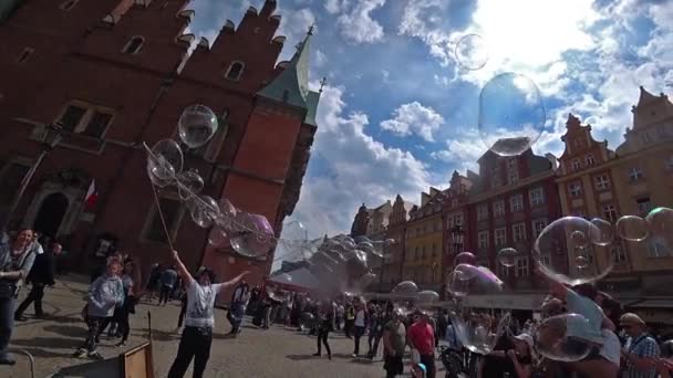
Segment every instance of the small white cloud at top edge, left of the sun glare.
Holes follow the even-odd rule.
[[[345,1],[344,1],[345,2]],[[385,0],[356,0],[350,11],[344,11],[348,3],[342,3],[341,15],[336,24],[341,35],[354,43],[373,43],[383,39],[383,27],[372,19],[372,11],[385,4]],[[327,6],[325,6],[327,7]],[[330,9],[328,9],[330,11]]]

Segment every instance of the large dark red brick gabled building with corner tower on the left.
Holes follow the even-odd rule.
[[[40,165],[14,224],[40,225],[63,241],[84,270],[111,246],[133,251],[145,266],[166,261],[168,246],[153,202],[141,145],[177,138],[177,119],[191,104],[209,106],[219,129],[185,154],[204,193],[266,216],[280,233],[292,213],[315,132],[320,94],[308,88],[311,33],[289,62],[277,64],[276,1],[250,7],[216,41],[187,54],[187,0],[14,1],[0,24],[0,214],[4,218],[29,167],[43,150],[45,124],[61,122],[63,139]],[[85,209],[95,181],[100,199]],[[207,248],[172,189],[161,191],[176,249],[195,269],[220,277],[244,269],[256,282],[266,261],[229,248]]]

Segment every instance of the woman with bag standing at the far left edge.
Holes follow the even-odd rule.
[[[35,254],[29,249],[33,231],[19,230],[0,243],[0,365],[14,365],[7,351],[14,327],[14,306],[20,281],[28,276]]]

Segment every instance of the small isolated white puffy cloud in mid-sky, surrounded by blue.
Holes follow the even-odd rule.
[[[432,107],[421,105],[418,102],[403,104],[393,112],[393,118],[381,123],[381,128],[397,135],[421,136],[433,141],[433,133],[444,125],[444,117]]]

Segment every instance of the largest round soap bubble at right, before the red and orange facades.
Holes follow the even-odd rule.
[[[532,258],[539,273],[553,281],[568,285],[594,282],[607,276],[613,267],[609,248],[597,243],[603,240],[601,230],[592,222],[566,217],[540,232]]]

